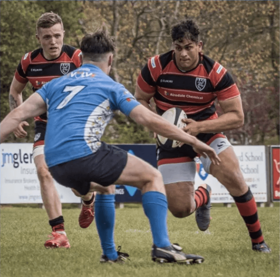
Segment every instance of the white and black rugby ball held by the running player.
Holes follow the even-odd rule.
[[[165,111],[161,117],[166,119],[171,124],[176,125],[178,128],[183,128],[186,123],[182,122],[182,119],[187,118],[186,113],[180,108],[171,108]],[[172,149],[178,147],[179,141],[171,140],[163,137],[162,135],[157,135],[158,144],[164,149]]]

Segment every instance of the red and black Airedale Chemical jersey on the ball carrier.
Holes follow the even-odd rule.
[[[141,90],[154,97],[159,114],[183,109],[194,120],[217,118],[214,101],[239,96],[230,73],[218,62],[199,54],[197,66],[187,72],[176,65],[174,50],[148,60],[138,76]]]

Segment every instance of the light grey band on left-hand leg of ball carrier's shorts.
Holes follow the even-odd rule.
[[[184,181],[194,181],[196,172],[195,161],[159,165],[164,184],[171,184]]]

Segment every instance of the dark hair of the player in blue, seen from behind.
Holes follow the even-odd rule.
[[[107,33],[104,26],[95,33],[86,34],[80,45],[83,56],[93,61],[102,59],[103,54],[115,51],[113,38]]]

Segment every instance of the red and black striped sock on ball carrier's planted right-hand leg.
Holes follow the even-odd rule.
[[[239,213],[246,223],[249,236],[252,240],[252,245],[263,243],[264,239],[262,236],[261,224],[258,218],[257,204],[250,188],[242,196],[232,197],[236,203]]]

